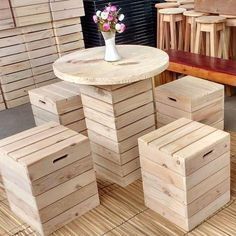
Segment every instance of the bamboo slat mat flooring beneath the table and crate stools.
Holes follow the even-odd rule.
[[[236,236],[236,133],[231,133],[232,201],[215,215],[186,233],[144,206],[142,181],[126,188],[98,180],[101,205],[57,230],[52,236]],[[37,234],[9,209],[0,189],[0,236]]]

